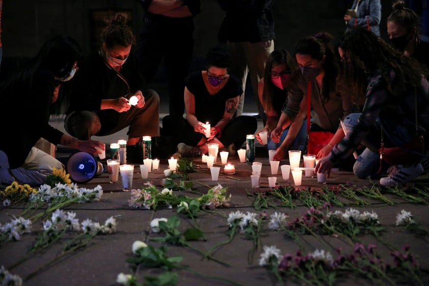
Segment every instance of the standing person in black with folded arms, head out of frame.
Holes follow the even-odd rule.
[[[184,79],[194,49],[194,17],[200,0],[139,0],[145,12],[136,50],[147,83],[151,83],[162,60],[167,74],[170,115],[183,116]]]

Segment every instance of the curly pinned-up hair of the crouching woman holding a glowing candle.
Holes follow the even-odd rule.
[[[126,13],[116,13],[104,18],[107,26],[101,32],[100,37],[108,49],[115,45],[127,47],[136,42],[136,37],[131,28],[126,24],[127,21],[128,15]]]

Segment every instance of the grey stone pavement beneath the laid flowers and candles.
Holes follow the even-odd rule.
[[[122,136],[122,135],[119,135]],[[109,139],[113,140],[113,139]],[[108,143],[108,142],[106,142]],[[59,148],[57,154],[67,155],[68,150]],[[106,152],[109,158],[109,150]],[[281,201],[274,199],[270,192],[272,188],[268,187],[267,177],[271,176],[271,169],[267,152],[262,147],[257,148],[256,161],[262,162],[262,174],[260,188],[251,188],[250,173],[251,166],[246,163],[239,163],[238,157],[228,159],[228,163],[234,164],[236,173],[230,176],[219,176],[219,181],[211,180],[208,169],[205,163],[200,161],[200,158],[195,158],[194,165],[198,167],[197,172],[189,173],[193,179],[194,192],[174,192],[174,195],[185,195],[189,197],[199,197],[196,192],[205,194],[209,187],[214,187],[221,184],[227,188],[228,194],[231,194],[231,205],[221,207],[210,212],[199,212],[196,222],[206,237],[206,241],[190,241],[189,244],[195,249],[207,252],[213,245],[228,240],[228,222],[227,218],[231,212],[253,212],[261,214],[266,212],[268,215],[274,212],[286,213],[289,218],[287,221],[292,221],[305,214],[309,210],[305,199],[294,199],[293,203],[296,207],[282,205]],[[220,161],[220,158],[218,159]],[[302,162],[302,161],[301,161]],[[282,161],[280,165],[287,164]],[[222,169],[222,165],[221,169]],[[141,189],[147,180],[151,181],[159,190],[162,190],[160,181],[164,178],[163,170],[168,168],[167,160],[161,160],[159,170],[152,170],[149,173],[148,179],[142,179],[140,169],[136,165],[133,176],[132,188]],[[279,168],[279,173],[275,175],[279,186],[294,187],[292,176],[289,180],[283,180]],[[429,181],[427,175],[421,176],[414,180],[410,185],[426,185]],[[178,182],[179,180],[176,179]],[[332,173],[328,179],[327,187],[332,188],[343,184],[350,184],[356,188],[370,186],[372,183],[369,180],[361,180],[356,178],[351,172],[339,171]],[[128,257],[133,257],[131,252],[132,243],[136,240],[144,241],[154,247],[166,246],[169,256],[182,256],[182,266],[187,266],[199,273],[206,275],[202,277],[188,270],[173,270],[178,274],[177,285],[296,285],[293,281],[284,278],[283,283],[279,283],[276,277],[267,269],[258,265],[260,253],[263,252],[263,246],[276,245],[281,250],[282,254],[295,254],[302,244],[304,252],[309,253],[315,249],[325,249],[335,254],[335,248],[342,248],[344,252],[352,252],[354,243],[344,239],[341,236],[312,236],[298,235],[297,243],[286,236],[282,230],[274,231],[269,229],[267,221],[262,221],[260,228],[260,244],[254,249],[253,242],[246,239],[243,233],[236,232],[235,237],[230,243],[221,246],[217,251],[212,253],[212,257],[217,261],[203,258],[203,255],[184,246],[175,246],[167,243],[154,242],[151,239],[164,237],[163,233],[154,233],[150,230],[150,222],[154,218],[170,218],[173,215],[178,215],[180,225],[178,229],[183,232],[190,228],[195,222],[186,217],[184,214],[177,214],[177,209],[157,209],[157,210],[142,210],[133,209],[128,205],[130,199],[129,192],[122,191],[121,181],[115,184],[109,184],[109,176],[107,173],[102,173],[95,177],[89,183],[79,185],[92,189],[100,185],[103,189],[103,195],[100,201],[75,204],[67,208],[69,212],[75,212],[79,222],[89,218],[93,221],[98,221],[101,224],[113,216],[116,219],[116,232],[109,235],[101,235],[95,237],[92,242],[85,248],[78,249],[69,255],[61,257],[55,263],[50,264],[61,252],[62,247],[67,243],[67,238],[53,243],[48,249],[41,253],[29,255],[28,259],[22,261],[13,269],[11,266],[17,264],[25,257],[28,250],[34,244],[37,235],[42,231],[42,222],[39,220],[34,223],[33,230],[30,234],[25,234],[20,241],[7,242],[0,245],[0,264],[12,274],[19,275],[21,278],[28,277],[36,272],[29,279],[24,280],[25,286],[43,286],[43,285],[62,285],[62,286],[77,286],[77,285],[119,285],[116,283],[116,278],[119,273],[131,274],[136,273],[137,281],[143,285],[143,279],[147,276],[157,276],[165,273],[165,269],[148,268],[148,267],[132,267],[126,263]],[[323,187],[325,187],[323,186]],[[303,177],[302,186],[297,187],[299,190],[305,190],[309,187],[311,190],[320,190],[321,185],[317,184],[315,178]],[[265,196],[262,196],[266,192]],[[417,195],[416,195],[417,196]],[[421,227],[429,230],[429,222],[426,219],[428,215],[427,202],[429,198],[425,198],[426,203],[411,203],[409,200],[385,194],[385,197],[390,199],[393,204],[388,204],[381,200],[371,199],[367,196],[360,195],[359,198],[366,201],[365,206],[357,205],[357,200],[347,199],[344,196],[338,195],[344,206],[334,206],[332,211],[339,210],[344,212],[347,207],[353,207],[360,212],[368,211],[375,212],[379,216],[379,220],[385,230],[380,239],[372,235],[359,235],[359,241],[365,245],[376,244],[377,251],[386,263],[392,264],[390,252],[392,249],[401,249],[403,245],[410,245],[410,251],[418,257],[422,271],[420,273],[423,285],[429,285],[429,243],[428,238],[421,235],[415,235],[406,231],[403,227],[395,226],[396,214],[401,210],[406,210],[412,213],[416,222]],[[266,209],[260,209],[255,201],[266,198],[271,204]],[[273,199],[272,199],[273,198]],[[307,202],[308,203],[308,202]],[[260,204],[259,204],[260,205]],[[19,216],[22,213],[25,205],[7,207],[0,211],[0,223],[5,224],[12,216]],[[389,249],[390,247],[390,249]],[[252,249],[254,251],[252,252]],[[224,264],[220,263],[223,262]],[[228,264],[228,265],[225,265]],[[208,277],[212,276],[212,277]],[[400,277],[400,276],[399,276]],[[228,279],[234,283],[219,278]],[[364,285],[371,284],[370,280],[363,278],[340,277],[335,285]],[[389,284],[389,283],[387,283]],[[409,285],[415,285],[415,281],[408,280]]]

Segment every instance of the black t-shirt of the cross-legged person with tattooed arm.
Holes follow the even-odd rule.
[[[225,105],[229,98],[243,93],[237,77],[230,74],[225,86],[218,93],[211,95],[203,80],[201,71],[195,71],[185,79],[186,88],[195,98],[195,115],[199,121],[211,124],[218,123],[225,113]]]

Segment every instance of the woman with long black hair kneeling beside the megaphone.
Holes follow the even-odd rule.
[[[57,35],[41,47],[38,55],[18,71],[2,75],[0,83],[0,184],[40,186],[53,168],[64,165],[34,147],[40,138],[96,154],[104,149],[98,141],[77,140],[49,125],[52,103],[61,101],[58,88],[77,71],[81,47],[65,35]]]

